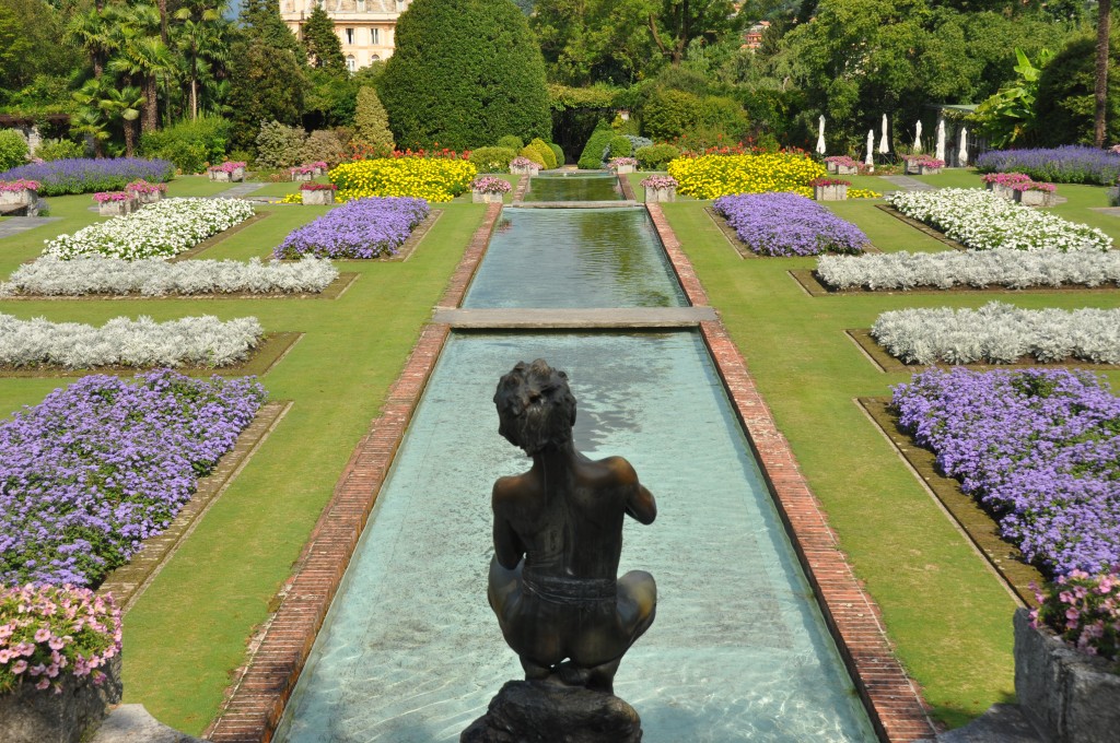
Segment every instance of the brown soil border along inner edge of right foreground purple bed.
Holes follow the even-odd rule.
[[[999,536],[999,525],[976,499],[961,490],[959,480],[937,470],[936,455],[898,429],[898,416],[889,410],[890,396],[857,397],[855,402],[906,461],[914,477],[941,504],[945,515],[964,533],[1015,600],[1021,605],[1037,605],[1030,584],[1044,584],[1043,574],[1024,562],[1018,547]]]

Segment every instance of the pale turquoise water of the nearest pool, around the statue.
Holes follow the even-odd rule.
[[[492,397],[534,358],[571,379],[577,448],[626,457],[657,499],[653,525],[628,520],[619,566],[657,581],[656,620],[615,679],[643,740],[875,740],[694,330],[452,333],[276,740],[451,743],[521,678],[486,573],[491,488],[530,460],[498,435]]]

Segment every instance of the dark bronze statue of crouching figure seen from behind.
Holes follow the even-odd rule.
[[[613,693],[623,655],[653,623],[653,576],[616,580],[623,517],[651,524],[653,496],[620,457],[576,451],[563,372],[520,363],[494,395],[498,432],[533,458],[494,483],[489,603],[526,680]]]

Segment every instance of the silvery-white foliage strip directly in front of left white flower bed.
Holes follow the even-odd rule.
[[[240,261],[181,261],[162,258],[124,261],[100,256],[63,261],[44,256],[21,265],[8,283],[0,284],[0,297],[39,294],[81,297],[83,294],[228,294],[270,292],[321,292],[338,278],[330,261],[307,256],[295,263],[252,258]]]

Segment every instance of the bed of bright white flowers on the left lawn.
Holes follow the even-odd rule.
[[[253,216],[237,199],[162,199],[123,217],[46,241],[45,255],[103,255],[137,261],[171,257]]]

